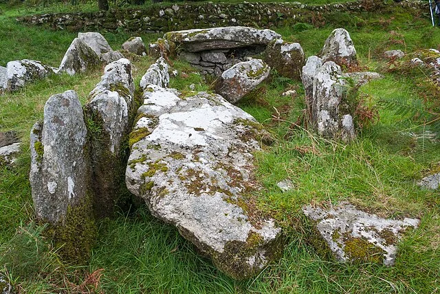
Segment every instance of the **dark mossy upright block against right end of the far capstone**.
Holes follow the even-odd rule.
[[[287,78],[300,79],[301,70],[305,65],[305,54],[300,43],[288,43],[278,39],[267,45],[265,62]]]

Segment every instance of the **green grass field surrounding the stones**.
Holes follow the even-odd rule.
[[[309,3],[314,1],[309,1]],[[322,2],[319,2],[322,3]],[[90,6],[90,7],[89,7]],[[95,9],[93,5],[87,9]],[[89,8],[88,8],[89,7]],[[7,8],[0,14],[0,65],[17,59],[35,59],[58,66],[75,34],[21,25],[14,17],[58,8]],[[89,264],[63,263],[50,240],[34,222],[28,174],[29,132],[43,117],[43,106],[52,94],[76,90],[84,103],[100,81],[102,70],[76,76],[51,76],[20,92],[0,96],[0,132],[17,131],[22,152],[13,169],[0,167],[0,273],[21,293],[439,293],[440,292],[440,198],[415,182],[440,169],[439,143],[417,140],[417,120],[403,120],[380,101],[423,101],[438,112],[438,89],[423,72],[390,72],[382,52],[401,49],[411,54],[419,48],[438,48],[440,30],[430,19],[406,12],[395,15],[362,14],[362,25],[347,26],[362,67],[386,76],[360,89],[366,105],[378,109],[379,120],[366,125],[353,143],[342,145],[316,136],[300,124],[304,93],[300,83],[273,74],[239,107],[252,114],[272,132],[276,142],[256,154],[259,178],[265,189],[259,207],[283,227],[283,257],[258,277],[236,282],[201,258],[192,244],[173,227],[153,218],[145,208],[120,212],[99,224],[99,237]],[[324,28],[293,25],[275,28],[287,41],[298,41],[307,56],[318,54],[332,23]],[[102,32],[113,49],[129,34]],[[144,41],[157,35],[141,34]],[[133,61],[135,80],[140,80],[153,59]],[[188,64],[175,68],[188,78],[173,79],[172,87],[207,90],[202,78]],[[298,92],[295,98],[281,94]],[[295,189],[281,193],[276,183],[289,178]],[[309,234],[300,212],[310,202],[350,200],[380,216],[420,218],[419,229],[399,242],[397,263],[345,263],[319,255],[307,243]],[[3,266],[5,264],[5,266]]]

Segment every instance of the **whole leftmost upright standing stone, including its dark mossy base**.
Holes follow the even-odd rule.
[[[36,216],[52,225],[68,260],[87,259],[96,227],[87,191],[87,129],[76,92],[50,97],[44,122],[34,125],[30,138]]]

